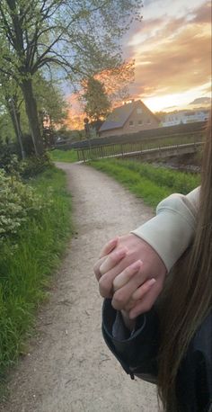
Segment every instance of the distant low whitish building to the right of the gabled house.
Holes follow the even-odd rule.
[[[166,113],[162,119],[162,126],[174,126],[175,124],[195,123],[196,121],[208,121],[208,110],[181,111]]]

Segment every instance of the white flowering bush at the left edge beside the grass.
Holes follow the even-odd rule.
[[[0,169],[0,245],[6,238],[14,238],[23,222],[35,216],[44,201],[28,184],[5,175]]]

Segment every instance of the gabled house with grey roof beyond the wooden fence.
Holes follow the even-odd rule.
[[[103,122],[99,133],[102,138],[119,136],[137,131],[156,129],[160,120],[140,100],[125,103],[110,113]]]

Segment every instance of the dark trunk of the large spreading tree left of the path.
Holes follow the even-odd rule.
[[[44,152],[43,141],[40,134],[39,115],[37,103],[33,95],[31,79],[22,81],[22,94],[24,97],[26,113],[31,129],[31,138],[35,148],[36,156],[41,156]]]

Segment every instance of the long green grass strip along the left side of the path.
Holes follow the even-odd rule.
[[[17,238],[17,249],[9,253],[10,242],[0,255],[0,371],[3,377],[20,354],[25,352],[27,338],[40,302],[48,297],[51,274],[57,268],[71,237],[71,199],[66,191],[66,175],[49,168],[31,181],[41,196],[50,191],[50,207],[38,212],[23,227]]]

